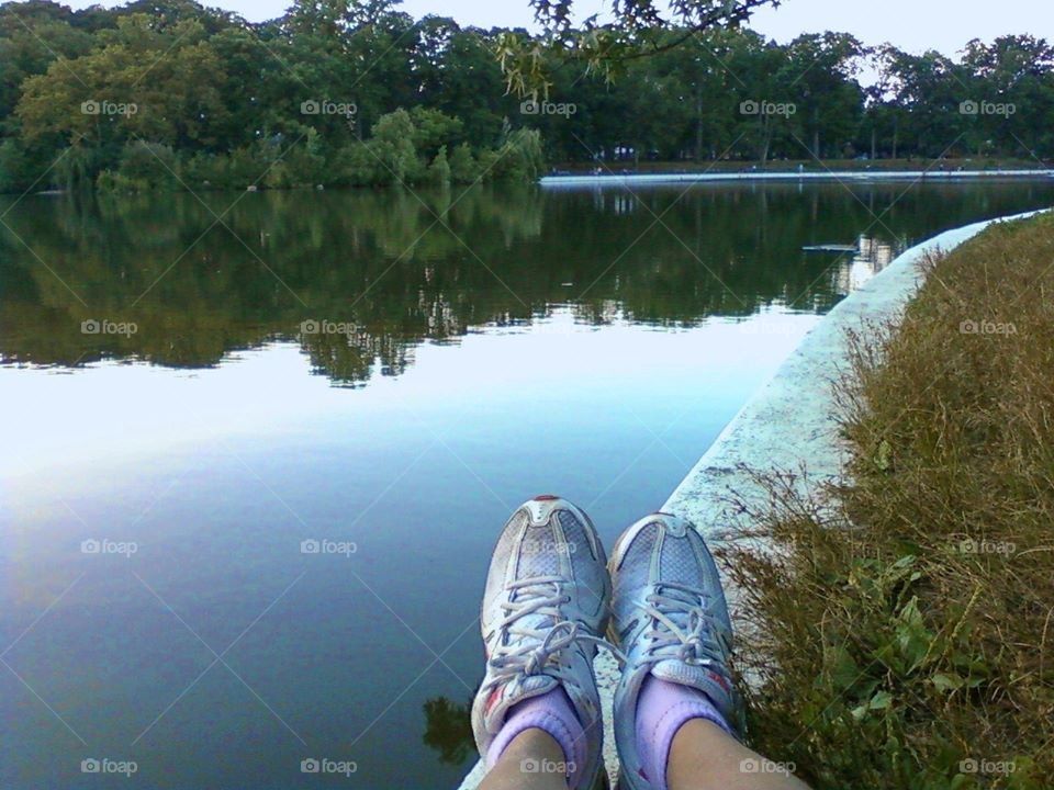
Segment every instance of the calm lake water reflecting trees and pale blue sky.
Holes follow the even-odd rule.
[[[897,249],[1054,203],[635,192],[0,199],[0,787],[456,785],[516,505],[610,543]]]

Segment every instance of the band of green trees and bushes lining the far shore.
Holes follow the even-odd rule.
[[[741,18],[637,33],[648,57],[572,58],[538,84],[525,64],[554,40],[414,19],[395,0],[293,0],[261,23],[192,0],[7,2],[0,193],[523,182],[547,162],[767,172],[1054,158],[1054,47],[1029,34],[951,57],[830,31],[776,43]]]

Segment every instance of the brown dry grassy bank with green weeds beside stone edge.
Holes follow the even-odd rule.
[[[769,481],[781,550],[728,557],[751,738],[817,790],[1049,788],[1054,217],[927,266],[900,326],[851,339],[851,484]]]

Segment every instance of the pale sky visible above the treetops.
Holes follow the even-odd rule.
[[[603,10],[603,0],[578,0],[585,13]],[[92,0],[72,0],[86,8]],[[105,7],[120,5],[106,0]],[[237,11],[254,22],[280,16],[289,0],[205,0],[208,5]],[[402,9],[415,18],[429,13],[452,16],[481,27],[529,26],[527,0],[404,0]],[[853,33],[864,44],[892,42],[901,49],[939,49],[954,55],[971,38],[990,41],[1006,33],[1031,33],[1054,41],[1054,8],[1050,0],[785,0],[778,9],[759,11],[751,26],[780,42],[799,33],[825,30]]]

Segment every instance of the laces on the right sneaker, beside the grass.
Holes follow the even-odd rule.
[[[710,610],[710,596],[689,586],[663,583],[655,585],[644,602],[638,602],[651,620],[644,632],[646,655],[655,662],[675,658],[692,666],[728,676],[731,633]]]

